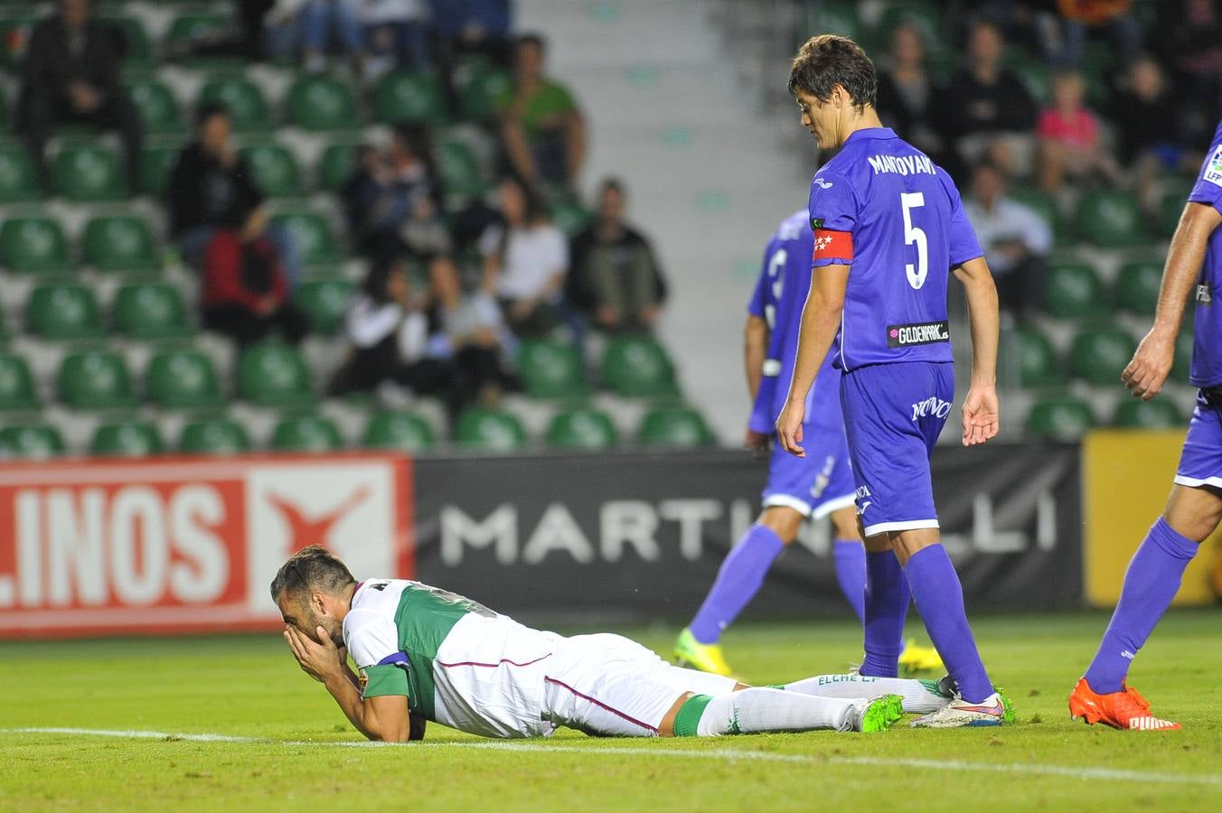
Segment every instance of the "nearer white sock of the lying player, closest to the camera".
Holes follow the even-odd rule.
[[[843,731],[853,703],[778,688],[744,688],[709,701],[697,736],[760,734],[764,731]]]

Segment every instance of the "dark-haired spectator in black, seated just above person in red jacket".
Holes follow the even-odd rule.
[[[230,139],[229,111],[204,104],[196,121],[196,142],[178,155],[166,188],[170,234],[183,260],[200,266],[220,229],[237,232],[248,243],[266,237],[288,282],[296,283],[301,278],[296,240],[287,229],[269,226],[263,193]]]

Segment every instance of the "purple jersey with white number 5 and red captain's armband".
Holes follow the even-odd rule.
[[[891,129],[859,129],[815,175],[808,215],[813,266],[851,266],[837,366],[952,361],[949,270],[984,251],[951,176]]]

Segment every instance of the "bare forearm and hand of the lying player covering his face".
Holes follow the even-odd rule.
[[[326,687],[348,721],[368,739],[407,742],[411,735],[407,697],[387,695],[362,698],[356,675],[340,659],[340,649],[335,642],[323,627],[318,629],[318,635],[321,643],[315,643],[297,627],[285,630],[285,640],[302,670]]]

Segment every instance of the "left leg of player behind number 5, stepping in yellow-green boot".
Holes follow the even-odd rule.
[[[803,519],[811,510],[813,479],[808,460],[774,450],[764,510],[726,554],[704,603],[679,634],[675,643],[678,663],[720,675],[731,673],[719,643],[721,632],[750,603],[772,563],[797,538]]]

